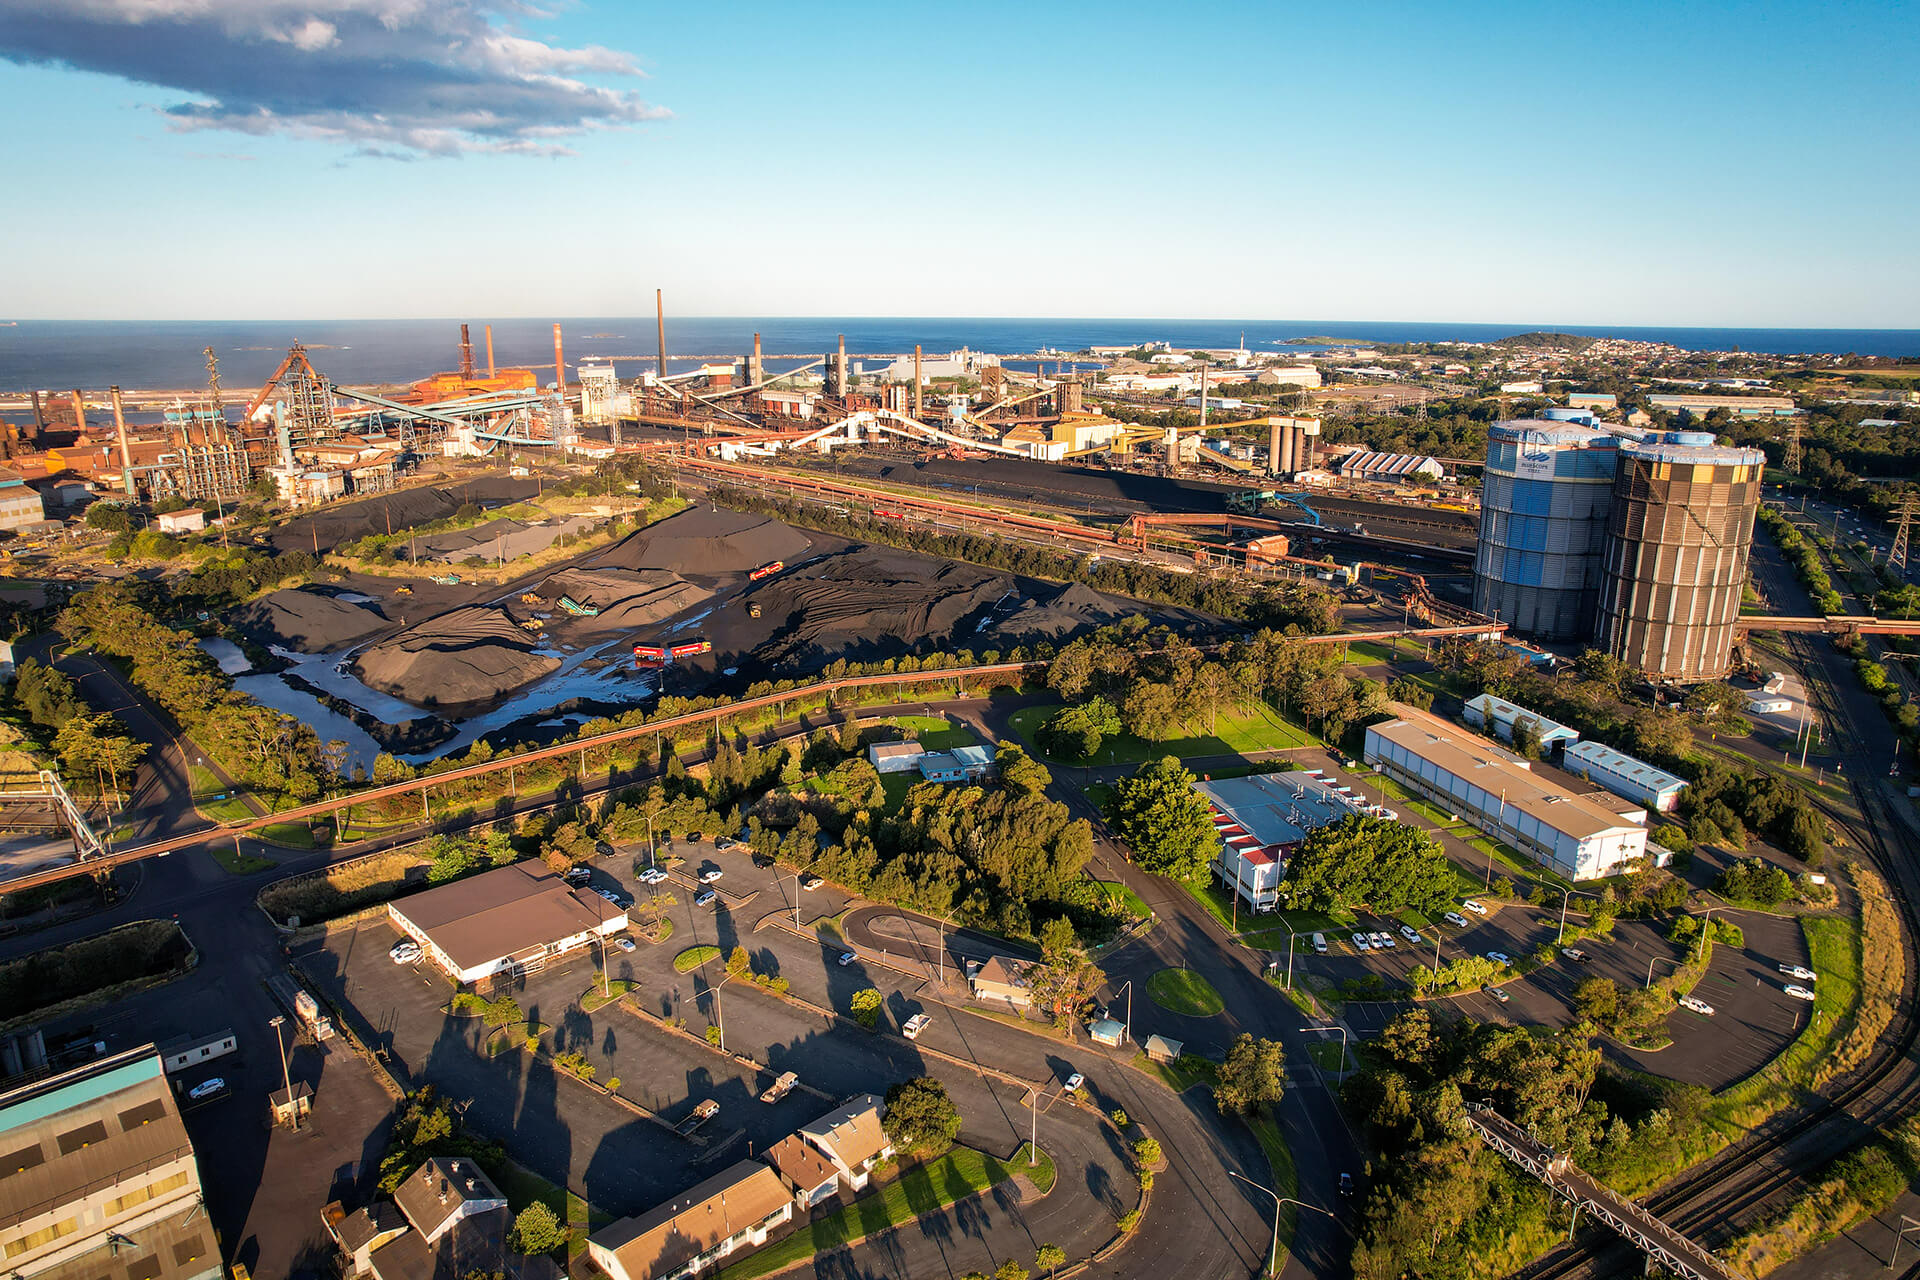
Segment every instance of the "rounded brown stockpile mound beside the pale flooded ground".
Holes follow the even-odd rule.
[[[361,681],[415,706],[490,702],[561,666],[499,608],[455,608],[380,641],[353,664]]]

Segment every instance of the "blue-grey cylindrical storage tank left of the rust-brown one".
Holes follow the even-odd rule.
[[[1486,434],[1473,606],[1544,641],[1592,639],[1619,439],[1521,418]]]

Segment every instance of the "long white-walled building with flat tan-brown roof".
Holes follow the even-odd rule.
[[[1590,881],[1645,856],[1645,827],[1536,775],[1513,752],[1413,706],[1396,702],[1394,716],[1367,727],[1367,764],[1528,858]]]

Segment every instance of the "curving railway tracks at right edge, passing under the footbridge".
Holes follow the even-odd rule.
[[[1914,944],[1920,938],[1920,915],[1914,912],[1914,902],[1920,900],[1914,887],[1920,839],[1914,839],[1907,823],[1891,812],[1876,785],[1872,747],[1832,679],[1832,651],[1822,652],[1811,635],[1795,633],[1782,639],[1789,652],[1801,658],[1801,670],[1811,676],[1809,693],[1839,747],[1841,762],[1855,766],[1849,781],[1860,802],[1864,839],[1853,823],[1845,823],[1845,829],[1855,833],[1860,850],[1868,854],[1891,890],[1889,900],[1901,917],[1905,990],[1895,1004],[1895,1021],[1882,1032],[1872,1055],[1834,1094],[1786,1121],[1755,1130],[1642,1201],[1682,1234],[1695,1240],[1709,1236],[1709,1244],[1724,1244],[1736,1230],[1751,1226],[1809,1173],[1859,1146],[1874,1130],[1920,1109],[1920,1063],[1912,1057],[1914,1042],[1920,1038],[1920,1021],[1912,1017],[1912,992],[1920,973]],[[1872,714],[1878,716],[1878,710]],[[1824,798],[1822,810],[1830,821],[1841,821]],[[1630,1249],[1622,1242],[1599,1236],[1586,1245],[1569,1245],[1546,1255],[1515,1272],[1513,1280],[1619,1274],[1626,1253]]]

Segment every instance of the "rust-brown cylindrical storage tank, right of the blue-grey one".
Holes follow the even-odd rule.
[[[1599,639],[1657,679],[1726,676],[1766,455],[1622,443],[1607,518]]]

